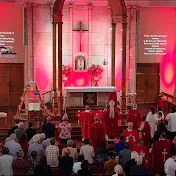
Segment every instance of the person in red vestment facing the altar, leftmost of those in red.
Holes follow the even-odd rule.
[[[88,105],[85,106],[85,111],[78,114],[78,123],[81,125],[82,138],[89,138],[89,130],[94,123],[94,116]]]

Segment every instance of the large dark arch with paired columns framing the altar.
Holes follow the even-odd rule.
[[[126,28],[127,28],[127,9],[124,0],[108,0],[112,12],[112,65],[111,69],[112,84],[115,86],[115,40],[116,24],[122,24],[122,114],[126,114]],[[62,96],[62,11],[65,0],[56,0],[53,7],[53,52],[56,52],[56,24],[58,24],[58,89],[60,91],[60,112],[63,112]],[[53,54],[53,63],[56,63],[56,54]],[[53,64],[53,70],[56,65]],[[55,75],[53,71],[53,75]],[[56,82],[56,76],[53,76]],[[55,83],[53,84],[55,85]],[[56,87],[53,86],[53,89]]]

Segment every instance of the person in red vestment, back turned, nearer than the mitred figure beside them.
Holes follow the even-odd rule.
[[[90,141],[94,150],[97,150],[102,141],[105,141],[104,126],[99,121],[97,116],[94,117],[94,124],[90,127]]]

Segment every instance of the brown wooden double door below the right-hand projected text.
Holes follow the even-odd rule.
[[[159,70],[159,64],[137,64],[137,103],[156,103],[160,90]]]

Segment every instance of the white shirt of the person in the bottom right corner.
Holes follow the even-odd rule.
[[[175,176],[176,162],[173,158],[168,158],[164,163],[164,171],[167,176]]]

